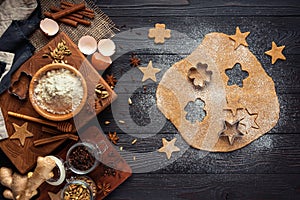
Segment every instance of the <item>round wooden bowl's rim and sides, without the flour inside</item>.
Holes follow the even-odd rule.
[[[35,91],[34,91],[36,86],[39,84],[40,79],[47,72],[49,72],[51,70],[58,70],[58,69],[66,69],[66,70],[71,71],[73,74],[75,74],[75,76],[78,77],[78,79],[81,81],[81,86],[83,89],[83,95],[82,95],[82,99],[81,99],[79,105],[71,112],[62,113],[62,114],[49,112],[45,108],[42,108],[38,103],[37,94],[35,94]],[[87,100],[87,85],[86,85],[85,79],[82,76],[82,74],[77,69],[72,67],[71,65],[62,64],[62,63],[48,64],[48,65],[45,65],[44,67],[42,67],[41,69],[39,69],[32,77],[30,85],[29,85],[29,100],[30,100],[33,108],[35,109],[35,111],[37,113],[39,113],[41,116],[45,117],[46,119],[52,120],[52,121],[64,121],[64,120],[70,119],[73,116],[75,116],[76,114],[78,114],[80,112],[80,110],[83,108],[83,106],[85,105],[86,100]],[[55,105],[54,105],[54,107],[55,107]],[[58,108],[58,107],[56,107],[56,108]]]

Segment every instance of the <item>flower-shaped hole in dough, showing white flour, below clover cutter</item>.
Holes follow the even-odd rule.
[[[190,101],[185,106],[184,110],[187,112],[185,118],[192,124],[196,121],[202,122],[206,116],[206,111],[204,110],[205,102],[201,99],[196,99],[194,102]]]

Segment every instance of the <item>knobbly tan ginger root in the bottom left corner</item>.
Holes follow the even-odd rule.
[[[0,168],[0,183],[9,188],[3,192],[7,199],[29,200],[37,194],[37,188],[46,180],[53,177],[52,170],[56,166],[49,157],[38,157],[34,172],[20,175],[6,167]]]

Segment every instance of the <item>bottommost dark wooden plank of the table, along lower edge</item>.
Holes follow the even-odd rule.
[[[108,199],[290,200],[300,198],[299,178],[299,174],[136,174]]]

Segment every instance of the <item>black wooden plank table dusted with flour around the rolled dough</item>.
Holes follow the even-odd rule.
[[[242,32],[250,31],[249,49],[273,78],[280,103],[277,125],[250,145],[230,153],[206,153],[205,156],[201,156],[202,151],[188,148],[168,166],[147,173],[133,171],[132,177],[107,199],[300,199],[299,1],[99,0],[96,3],[116,23],[120,33],[160,22],[195,40],[197,46],[210,32],[232,35],[236,26]],[[271,65],[270,57],[264,52],[270,49],[272,41],[286,46],[286,61]],[[172,46],[167,51],[135,48],[137,50],[116,59],[105,74],[113,73],[121,78],[131,68],[131,53],[136,53],[143,65],[153,59],[171,66],[192,51],[172,53]],[[130,116],[124,115],[124,121],[130,117],[140,126],[150,123],[156,86],[145,84],[137,88],[132,94]],[[166,121],[155,136],[139,138],[132,145],[136,137],[121,129],[122,124],[115,119],[112,110],[102,112],[99,122],[105,133],[119,134],[118,146],[127,151],[155,151],[160,148],[162,137],[173,138],[179,134]],[[105,125],[105,121],[111,124]],[[1,166],[11,166],[2,152],[0,155]],[[134,169],[138,167],[138,161],[134,162],[129,156],[126,159]]]

